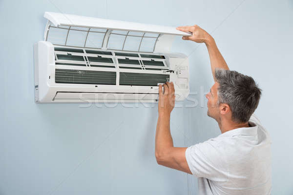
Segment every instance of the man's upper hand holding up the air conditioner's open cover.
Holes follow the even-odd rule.
[[[213,38],[201,27],[198,25],[193,26],[179,26],[176,28],[177,30],[192,33],[192,36],[183,36],[182,39],[184,40],[192,40],[197,43],[208,43],[209,40],[212,40]]]

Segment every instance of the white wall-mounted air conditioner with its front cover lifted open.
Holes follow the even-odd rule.
[[[173,27],[45,12],[44,41],[34,45],[37,102],[155,102],[172,81],[189,94],[188,58],[169,53]]]

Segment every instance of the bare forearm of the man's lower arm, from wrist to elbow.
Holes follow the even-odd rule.
[[[173,139],[170,133],[170,115],[159,113],[155,140],[156,157],[165,155],[168,149],[172,147]]]

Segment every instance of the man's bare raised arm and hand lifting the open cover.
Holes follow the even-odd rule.
[[[184,36],[182,39],[184,40],[192,40],[197,43],[205,43],[208,51],[209,51],[209,60],[210,60],[210,67],[212,76],[215,80],[215,69],[221,68],[225,70],[229,70],[229,67],[221,55],[215,40],[207,33],[204,29],[201,27],[194,25],[194,26],[180,26],[176,28],[177,30],[183,31],[183,32],[189,32],[192,33],[192,36]]]

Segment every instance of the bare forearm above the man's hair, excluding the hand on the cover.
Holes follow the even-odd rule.
[[[215,69],[221,68],[225,70],[229,70],[229,67],[223,58],[222,54],[220,53],[215,40],[210,36],[209,39],[205,42],[209,52],[209,60],[210,60],[210,67],[212,76],[215,79]]]

